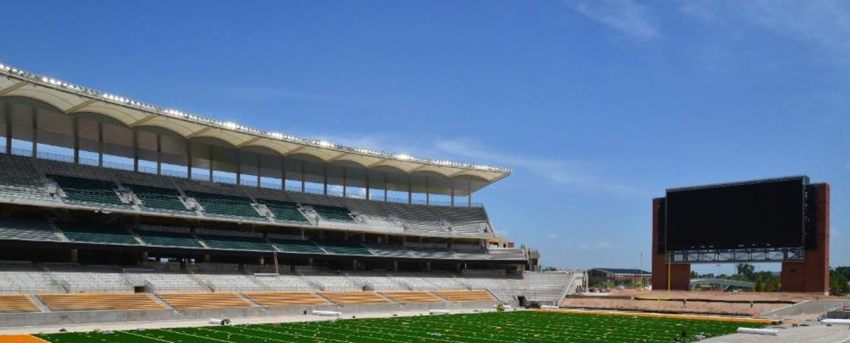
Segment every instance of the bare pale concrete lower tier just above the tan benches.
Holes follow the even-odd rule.
[[[578,274],[583,275],[583,274]],[[0,294],[243,291],[398,291],[488,289],[506,303],[519,296],[557,303],[574,283],[573,272],[523,272],[521,275],[463,276],[440,272],[309,271],[299,274],[238,270],[164,271],[156,267],[73,266],[0,262]]]

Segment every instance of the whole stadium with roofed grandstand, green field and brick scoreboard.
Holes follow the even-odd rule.
[[[0,112],[0,333],[17,334],[0,342],[696,341],[843,303],[824,294],[829,186],[808,177],[694,188],[794,183],[791,213],[809,212],[771,227],[802,224],[746,246],[677,232],[700,216],[676,200],[694,189],[668,190],[653,201],[655,290],[601,296],[586,272],[541,272],[473,201],[511,169],[249,128],[7,65]],[[757,202],[730,194],[714,202]],[[740,261],[782,262],[797,293],[684,292],[691,263]]]

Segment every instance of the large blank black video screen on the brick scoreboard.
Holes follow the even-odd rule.
[[[666,250],[799,248],[805,176],[667,190]]]

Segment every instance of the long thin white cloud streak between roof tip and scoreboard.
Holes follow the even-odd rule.
[[[439,151],[451,156],[462,157],[483,163],[513,166],[521,171],[529,171],[537,177],[558,185],[580,186],[588,189],[603,190],[618,196],[632,196],[638,189],[621,185],[609,180],[601,180],[599,166],[578,160],[553,159],[513,155],[481,147],[471,140],[437,140]]]

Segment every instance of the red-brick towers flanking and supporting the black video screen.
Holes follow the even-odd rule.
[[[780,281],[784,292],[828,294],[830,290],[830,185],[812,184],[815,191],[808,203],[814,206],[814,236],[802,261],[782,262]],[[652,199],[652,288],[686,290],[690,283],[689,263],[668,263],[660,239],[665,198]],[[668,276],[669,274],[669,276]]]

